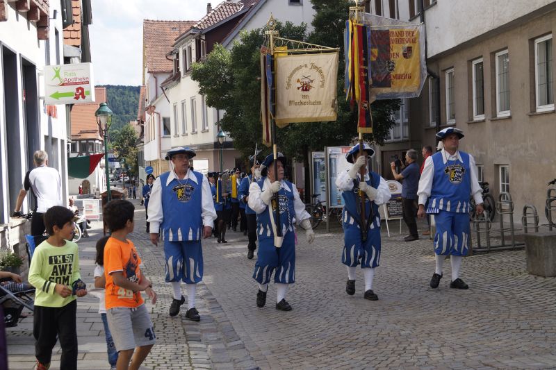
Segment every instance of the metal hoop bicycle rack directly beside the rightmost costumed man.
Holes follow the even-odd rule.
[[[477,248],[473,249],[473,252],[490,252],[490,251],[502,251],[506,249],[518,249],[525,247],[525,243],[516,243],[515,228],[514,228],[514,202],[512,201],[512,196],[508,192],[502,192],[498,196],[498,203],[496,203],[496,212],[498,212],[498,217],[500,217],[500,229],[491,230],[491,223],[485,215],[480,218],[473,219],[473,226],[475,228],[475,234],[477,235]],[[504,227],[504,215],[509,217],[509,228]],[[484,232],[481,230],[480,225],[486,224]],[[556,225],[555,225],[556,226]],[[505,233],[509,231],[512,239],[511,245],[506,245]],[[486,247],[481,246],[481,233],[485,234]],[[491,244],[491,233],[500,233],[500,245]]]

